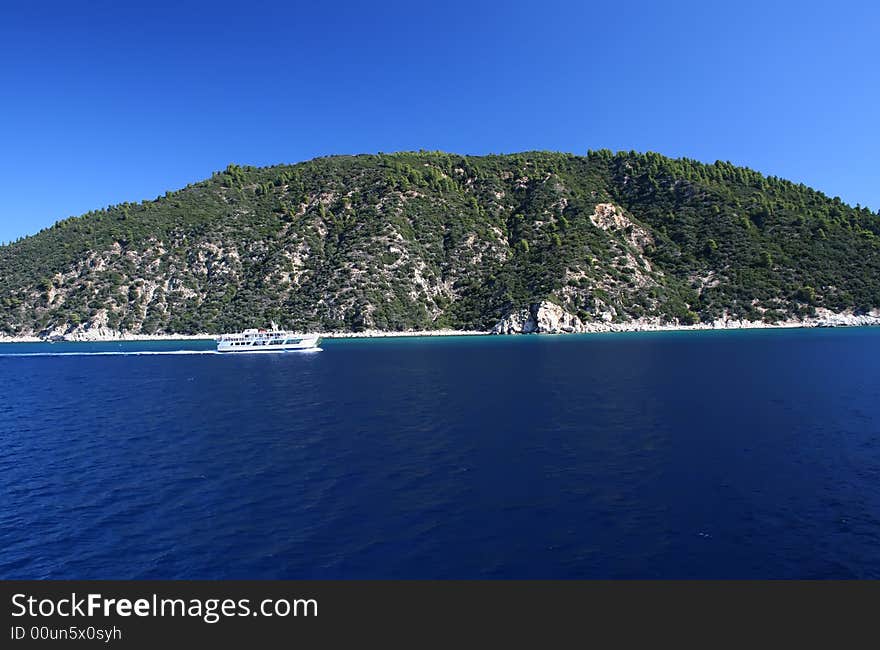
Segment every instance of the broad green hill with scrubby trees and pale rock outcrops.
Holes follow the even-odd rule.
[[[230,165],[0,247],[0,333],[776,321],[880,307],[880,216],[730,163],[397,153]]]

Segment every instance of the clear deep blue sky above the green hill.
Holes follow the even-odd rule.
[[[229,162],[730,160],[880,209],[880,3],[4,2],[0,241]]]

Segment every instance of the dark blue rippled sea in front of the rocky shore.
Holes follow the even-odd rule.
[[[0,578],[880,578],[880,329],[56,354],[213,345],[0,345]]]

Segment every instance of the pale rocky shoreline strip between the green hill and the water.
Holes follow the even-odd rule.
[[[687,332],[687,331],[732,331],[751,329],[814,329],[814,328],[846,328],[846,327],[877,327],[880,317],[873,315],[852,316],[835,315],[831,318],[815,318],[803,321],[781,321],[765,323],[763,321],[715,321],[679,325],[646,321],[630,321],[627,323],[588,323],[583,331],[532,332],[539,335],[567,334],[608,334],[626,332]],[[411,338],[438,336],[522,336],[522,334],[495,334],[491,330],[423,330],[423,331],[383,331],[365,330],[363,332],[324,332],[318,333],[322,339],[372,339],[372,338]],[[132,341],[216,341],[220,334],[91,334],[79,333],[58,342],[65,343],[113,343]],[[48,338],[38,336],[3,336],[0,343],[49,343]]]

